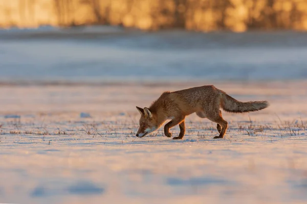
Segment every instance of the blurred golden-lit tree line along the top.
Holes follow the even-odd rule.
[[[145,30],[307,30],[307,0],[10,0],[1,4],[2,27],[104,24]]]

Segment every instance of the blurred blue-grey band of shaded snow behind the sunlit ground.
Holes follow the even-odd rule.
[[[65,31],[0,32],[0,80],[101,83],[307,78],[307,36],[303,33],[120,30],[114,34],[105,30],[90,36],[77,29],[64,36]]]

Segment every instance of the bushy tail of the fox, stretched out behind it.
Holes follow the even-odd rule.
[[[227,112],[231,113],[244,113],[258,111],[265,109],[269,106],[268,101],[248,101],[241,102],[231,97],[230,95],[222,92],[221,107]]]

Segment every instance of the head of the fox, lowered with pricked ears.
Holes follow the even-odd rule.
[[[137,107],[138,111],[141,114],[140,118],[140,127],[137,132],[137,137],[145,137],[149,133],[158,129],[158,123],[156,121],[155,115],[153,115],[148,108]]]

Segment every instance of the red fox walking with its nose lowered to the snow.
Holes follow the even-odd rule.
[[[220,135],[215,136],[214,139],[224,138],[228,122],[223,119],[220,108],[231,113],[244,113],[265,109],[268,106],[268,101],[240,102],[213,85],[174,92],[166,91],[153,101],[149,108],[136,107],[141,114],[140,127],[136,136],[145,137],[159,129],[167,119],[171,119],[164,126],[165,136],[171,137],[169,129],[179,124],[179,136],[173,139],[182,139],[185,134],[185,117],[196,113],[201,118],[208,118],[217,123],[216,127]]]

